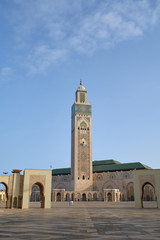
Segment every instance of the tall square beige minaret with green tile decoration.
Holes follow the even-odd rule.
[[[87,90],[80,86],[72,105],[71,178],[73,191],[92,190],[92,116]]]

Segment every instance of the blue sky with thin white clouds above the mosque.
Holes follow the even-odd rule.
[[[0,1],[0,174],[70,167],[80,78],[93,160],[160,168],[160,1]]]

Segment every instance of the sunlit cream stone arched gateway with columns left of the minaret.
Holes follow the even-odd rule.
[[[9,176],[0,176],[0,207],[29,208],[31,201],[39,207],[51,207],[51,170],[13,169]],[[36,187],[35,187],[36,186]]]

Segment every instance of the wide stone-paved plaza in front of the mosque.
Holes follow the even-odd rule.
[[[0,239],[160,239],[160,210],[133,203],[52,203],[51,209],[0,208]]]

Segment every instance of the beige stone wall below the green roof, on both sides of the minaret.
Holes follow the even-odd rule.
[[[71,175],[52,176],[52,192],[54,189],[65,189],[65,192],[72,191]],[[134,200],[133,171],[93,173],[92,192],[98,192],[100,198],[101,196],[104,198],[104,189],[119,189],[120,200]],[[80,192],[82,193],[82,191]],[[91,191],[83,192],[89,193]]]

